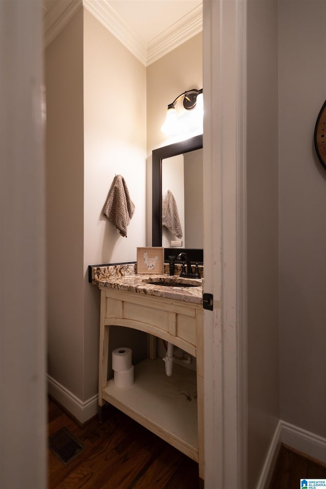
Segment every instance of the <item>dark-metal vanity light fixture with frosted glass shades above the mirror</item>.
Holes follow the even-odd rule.
[[[184,117],[181,116],[178,119],[177,111],[175,108],[177,101],[183,95],[184,95],[183,107],[185,108],[186,111],[192,111],[196,107],[196,113],[198,113],[198,116],[196,116],[196,119],[199,121],[199,125],[202,125],[202,121],[203,121],[203,89],[201,88],[200,90],[196,90],[194,88],[193,90],[186,90],[185,92],[180,93],[180,95],[178,95],[173,100],[172,103],[169,103],[167,117],[166,117],[165,123],[161,127],[161,131],[164,132],[165,134],[175,135],[178,132],[180,132],[180,129],[181,129],[181,132],[184,132],[184,129],[182,129],[180,127],[180,120],[179,120],[181,118],[184,119]]]

